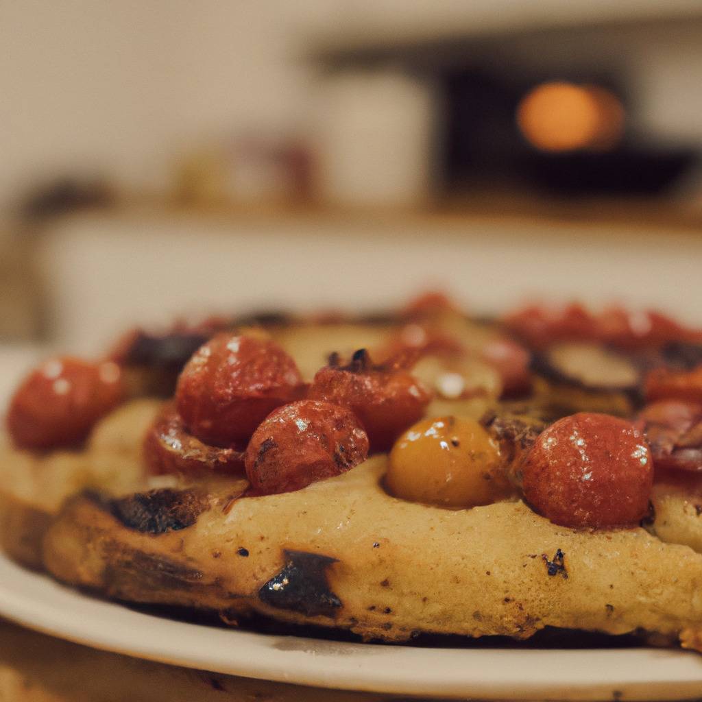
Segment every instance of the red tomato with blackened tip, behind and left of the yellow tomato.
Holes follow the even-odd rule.
[[[423,415],[431,394],[407,371],[374,366],[361,349],[347,366],[340,366],[333,355],[329,366],[314,376],[308,397],[350,408],[373,451],[383,451]]]

